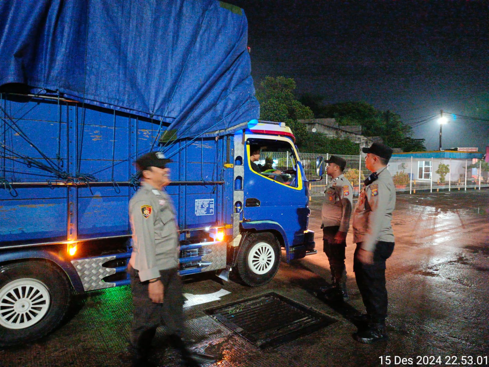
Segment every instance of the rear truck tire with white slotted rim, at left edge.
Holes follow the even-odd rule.
[[[0,266],[0,346],[46,335],[63,320],[69,298],[65,273],[48,262]]]

